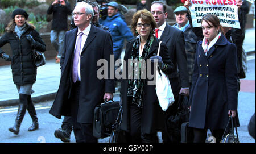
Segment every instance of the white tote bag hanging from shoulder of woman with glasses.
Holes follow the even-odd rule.
[[[161,43],[162,41],[159,42],[158,56]],[[156,69],[155,90],[156,95],[158,96],[159,105],[163,111],[166,111],[168,107],[174,103],[174,94],[172,93],[172,88],[168,76],[166,76],[166,74],[163,73],[161,69]]]

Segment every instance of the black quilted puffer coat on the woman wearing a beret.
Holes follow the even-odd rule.
[[[36,66],[32,59],[32,47],[26,38],[26,35],[30,34],[31,31],[36,42],[33,48],[41,52],[46,51],[46,44],[39,33],[31,27],[20,38],[16,32],[6,32],[0,38],[0,48],[6,43],[11,46],[11,69],[16,85],[33,84],[36,81]]]

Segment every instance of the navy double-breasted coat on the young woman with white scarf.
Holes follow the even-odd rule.
[[[189,126],[225,129],[228,110],[237,110],[238,70],[236,45],[224,35],[205,56],[197,43],[189,103]],[[236,116],[237,117],[237,116]],[[237,123],[237,125],[239,125]]]

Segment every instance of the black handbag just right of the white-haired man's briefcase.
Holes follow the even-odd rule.
[[[109,143],[126,143],[126,132],[120,130],[120,124],[122,122],[123,109],[120,107],[119,113],[115,123],[112,125],[112,132],[109,137]]]

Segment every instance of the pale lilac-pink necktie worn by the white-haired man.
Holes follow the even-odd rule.
[[[74,83],[78,80],[77,65],[78,65],[79,56],[80,56],[82,35],[83,35],[83,33],[80,32],[79,36],[77,38],[76,50],[75,50],[75,55],[74,55],[74,59],[73,59],[72,80]]]

